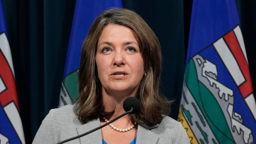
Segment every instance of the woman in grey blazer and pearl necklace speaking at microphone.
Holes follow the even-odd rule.
[[[139,112],[67,143],[190,143],[182,125],[165,116],[170,102],[160,94],[160,73],[160,44],[145,21],[131,10],[102,12],[82,46],[77,101],[51,110],[33,143],[57,143],[103,125],[125,112],[130,96],[139,99]]]

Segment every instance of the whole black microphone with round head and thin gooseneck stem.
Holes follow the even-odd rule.
[[[117,119],[119,119],[120,117],[122,117],[122,116],[124,116],[124,115],[126,115],[128,113],[131,113],[131,114],[136,113],[137,111],[139,111],[139,100],[136,97],[127,97],[123,101],[123,109],[125,110],[125,113],[117,116],[116,118],[110,120],[109,122],[105,123],[104,125],[101,125],[101,126],[95,128],[95,129],[92,129],[91,131],[88,131],[88,132],[86,132],[84,134],[80,134],[80,135],[77,135],[75,137],[63,140],[63,141],[61,141],[61,142],[59,142],[57,144],[62,144],[62,143],[74,140],[76,138],[82,137],[84,135],[90,134],[90,133],[92,133],[92,132],[94,132],[94,131],[96,131],[98,129],[101,129],[101,128],[105,127],[106,125],[116,121]]]

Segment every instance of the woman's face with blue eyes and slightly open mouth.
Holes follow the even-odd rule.
[[[137,35],[128,27],[109,24],[98,40],[96,65],[103,93],[134,96],[143,77],[144,61]]]

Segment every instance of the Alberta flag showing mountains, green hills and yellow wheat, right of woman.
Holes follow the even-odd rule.
[[[235,0],[193,0],[179,121],[193,144],[256,144],[256,105]]]

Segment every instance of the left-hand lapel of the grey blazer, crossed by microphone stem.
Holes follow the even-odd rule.
[[[99,118],[96,120],[89,121],[86,124],[83,124],[81,126],[76,127],[77,134],[84,134],[88,131],[91,131],[92,129],[95,129],[96,127],[100,126]],[[92,132],[91,134],[87,134],[85,136],[82,136],[79,138],[79,141],[81,144],[102,144],[102,137],[101,137],[101,130],[96,130]]]

